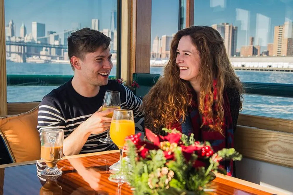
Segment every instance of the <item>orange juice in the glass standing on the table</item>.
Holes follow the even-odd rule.
[[[110,137],[119,149],[125,144],[125,137],[135,134],[133,120],[112,120],[110,126]]]

